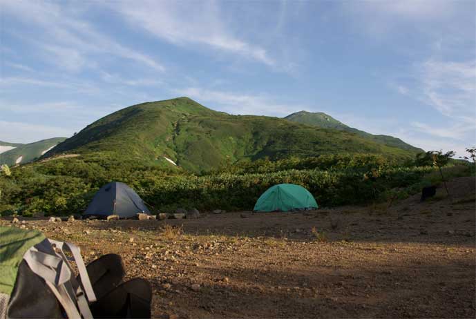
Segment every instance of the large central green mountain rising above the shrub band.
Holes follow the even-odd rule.
[[[187,97],[155,101],[118,110],[86,126],[48,151],[58,154],[112,156],[140,163],[208,171],[238,161],[291,155],[374,153],[414,157],[347,131],[317,129],[277,117],[229,115]]]

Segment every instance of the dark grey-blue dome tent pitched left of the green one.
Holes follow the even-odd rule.
[[[132,218],[137,213],[149,213],[139,195],[124,183],[112,182],[97,191],[83,215],[119,215],[120,218]]]

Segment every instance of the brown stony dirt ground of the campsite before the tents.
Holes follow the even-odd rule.
[[[475,182],[390,207],[15,226],[86,262],[120,254],[151,282],[156,318],[475,318]]]

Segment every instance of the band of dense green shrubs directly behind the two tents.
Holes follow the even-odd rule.
[[[0,212],[82,213],[95,192],[111,181],[132,186],[160,211],[181,206],[250,210],[261,193],[279,183],[304,186],[320,206],[366,204],[417,193],[428,182],[422,177],[438,173],[433,166],[397,166],[379,155],[323,155],[321,159],[294,157],[258,163],[236,172],[195,175],[175,166],[137,164],[108,154],[37,162],[12,168],[10,176],[0,177]],[[448,166],[445,174],[456,167],[468,170],[468,166]]]

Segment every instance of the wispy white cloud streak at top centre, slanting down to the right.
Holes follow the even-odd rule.
[[[267,50],[238,39],[227,30],[213,1],[131,1],[111,2],[131,26],[140,26],[151,35],[182,46],[202,44],[209,48],[254,59],[267,66],[276,62]]]

